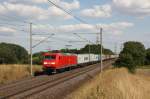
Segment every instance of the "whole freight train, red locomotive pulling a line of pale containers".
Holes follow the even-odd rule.
[[[94,64],[100,61],[97,54],[44,53],[43,70],[47,73],[58,72],[77,66]],[[117,55],[102,55],[102,60],[116,58]]]

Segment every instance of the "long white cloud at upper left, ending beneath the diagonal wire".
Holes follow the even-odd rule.
[[[51,6],[47,9],[36,5],[12,4],[4,2],[0,4],[0,14],[7,16],[15,14],[16,17],[29,20],[47,20],[51,18],[71,19],[72,17],[62,10]]]

